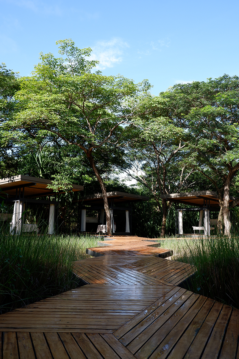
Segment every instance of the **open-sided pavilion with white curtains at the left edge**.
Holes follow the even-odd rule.
[[[51,188],[52,181],[44,178],[23,176],[13,176],[0,180],[0,196],[4,204],[14,203],[13,214],[1,214],[1,221],[11,219],[11,232],[19,233],[37,231],[37,224],[24,224],[23,213],[28,204],[47,204],[49,205],[48,234],[53,234],[58,227],[58,208],[59,194],[65,193],[65,190],[58,188],[58,192]],[[71,191],[82,191],[83,186],[71,185]],[[54,196],[54,200],[52,200]],[[44,199],[48,197],[48,199]],[[49,199],[51,197],[51,199]]]

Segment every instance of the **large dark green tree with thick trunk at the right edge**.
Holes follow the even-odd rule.
[[[239,78],[224,75],[206,82],[179,84],[162,97],[174,104],[172,117],[187,126],[193,156],[188,162],[217,189],[218,229],[222,230],[224,223],[224,233],[229,235],[229,192],[239,170]]]

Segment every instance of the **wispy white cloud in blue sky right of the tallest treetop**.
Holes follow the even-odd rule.
[[[96,66],[98,70],[104,70],[106,67],[114,67],[123,59],[124,49],[129,47],[127,42],[120,38],[113,38],[109,41],[98,41],[92,47],[91,60],[98,60],[100,64]]]

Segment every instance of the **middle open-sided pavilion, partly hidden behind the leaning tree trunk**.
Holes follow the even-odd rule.
[[[110,215],[111,215],[111,225],[112,225],[112,232],[115,233],[114,227],[114,211],[125,211],[125,231],[121,225],[120,231],[117,230],[118,235],[127,234],[130,235],[132,232],[132,203],[137,201],[148,201],[149,197],[147,196],[140,196],[125,192],[113,191],[107,192],[107,199],[110,208]],[[87,223],[95,223],[95,229],[89,227],[89,232],[96,232],[97,230],[100,232],[106,232],[106,218],[105,218],[105,210],[104,210],[104,201],[102,193],[96,193],[94,195],[85,196],[79,200],[79,213],[81,210],[81,232],[86,231],[86,224]],[[88,217],[86,216],[86,210],[100,210],[99,218],[96,217]],[[79,216],[80,217],[80,216]],[[124,219],[121,216],[121,221],[123,222]],[[78,220],[78,223],[80,220]],[[118,228],[120,228],[119,223],[116,224]],[[102,227],[99,227],[102,226]],[[79,226],[78,226],[79,227]]]

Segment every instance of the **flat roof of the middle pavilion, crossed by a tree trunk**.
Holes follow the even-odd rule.
[[[114,199],[115,202],[125,202],[125,201],[148,201],[149,197],[133,195],[125,192],[107,192],[108,199]],[[94,195],[86,196],[82,198],[83,202],[87,202],[87,204],[103,204],[103,195],[102,193],[96,193]]]

